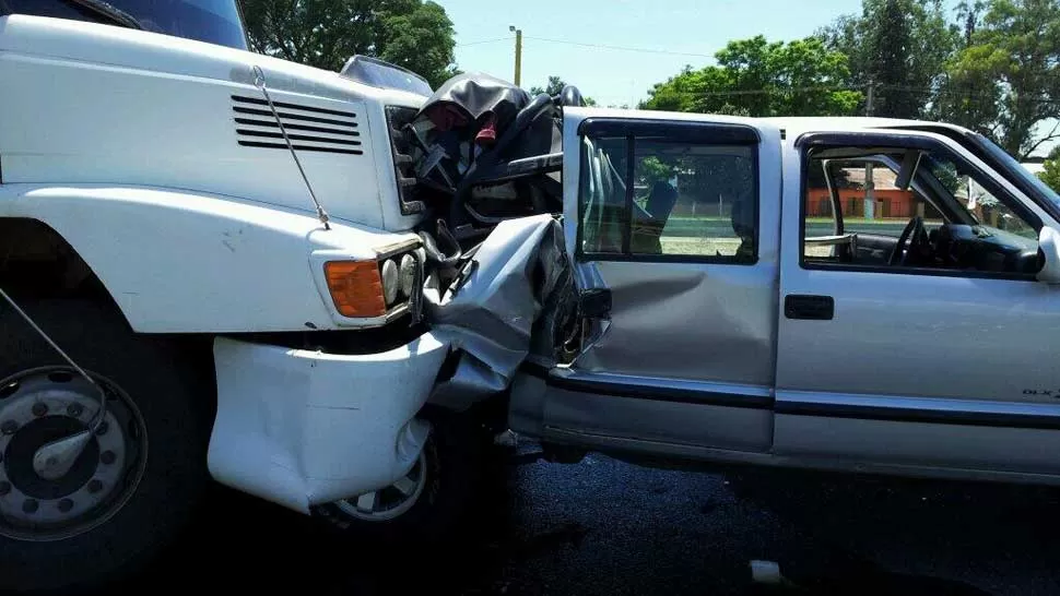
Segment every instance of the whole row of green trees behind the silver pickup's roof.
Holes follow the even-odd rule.
[[[1060,140],[1060,0],[862,0],[811,39],[731,41],[640,107],[953,122],[1017,158]],[[870,104],[871,100],[871,105]]]

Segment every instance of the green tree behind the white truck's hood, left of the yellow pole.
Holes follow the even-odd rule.
[[[243,0],[256,51],[337,71],[356,53],[399,64],[437,86],[454,64],[452,22],[424,0]]]

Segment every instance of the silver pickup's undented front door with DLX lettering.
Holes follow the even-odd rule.
[[[1060,472],[1060,288],[1035,281],[1051,217],[941,136],[787,142],[775,453]]]

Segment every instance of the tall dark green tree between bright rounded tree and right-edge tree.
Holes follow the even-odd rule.
[[[942,0],[863,0],[860,15],[840,16],[817,35],[849,57],[848,85],[873,86],[873,116],[921,118],[930,112],[959,29],[946,21]]]

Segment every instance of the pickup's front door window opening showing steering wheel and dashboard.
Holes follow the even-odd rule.
[[[1041,267],[1040,220],[950,155],[827,147],[811,152],[806,166],[808,265],[1027,275]]]

